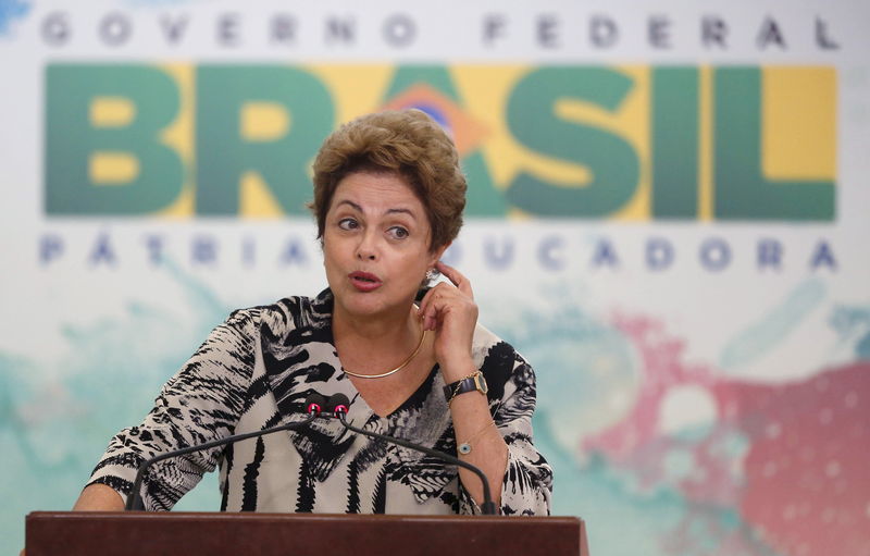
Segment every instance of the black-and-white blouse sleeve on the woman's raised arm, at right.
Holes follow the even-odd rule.
[[[494,351],[506,346],[502,343]],[[499,359],[502,361],[500,365]],[[509,373],[500,399],[490,397],[489,401],[490,409],[495,407],[493,418],[496,427],[508,445],[508,466],[501,482],[501,515],[548,516],[552,497],[552,469],[535,448],[532,437],[535,372],[512,348],[510,354],[502,351],[500,356],[490,351],[482,371],[487,383],[496,385],[502,383],[506,371]],[[460,491],[460,511],[480,514],[480,507],[468,492],[461,486]]]

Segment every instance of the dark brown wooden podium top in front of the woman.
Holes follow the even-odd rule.
[[[34,511],[27,556],[587,556],[574,517]]]

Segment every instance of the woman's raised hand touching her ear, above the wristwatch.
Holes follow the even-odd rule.
[[[420,316],[423,329],[435,331],[435,360],[445,381],[452,382],[474,370],[471,343],[477,305],[471,283],[461,272],[440,261],[435,268],[451,284],[439,282],[430,289],[420,302]]]

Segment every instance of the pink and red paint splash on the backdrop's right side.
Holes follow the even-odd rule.
[[[631,472],[642,492],[675,489],[694,504],[666,549],[696,549],[688,531],[700,519],[721,539],[719,554],[761,554],[767,545],[794,556],[870,556],[870,361],[800,382],[750,384],[686,365],[684,343],[660,322],[617,316],[614,324],[637,349],[642,385],[629,417],[582,447]],[[666,396],[686,385],[714,401],[717,419],[700,438],[660,430]],[[723,453],[735,437],[747,444],[745,454]],[[692,471],[676,479],[666,468],[674,450],[693,458]],[[703,517],[709,507],[738,508],[753,534],[717,530]]]

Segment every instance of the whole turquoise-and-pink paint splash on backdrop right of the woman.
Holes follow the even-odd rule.
[[[870,311],[831,311],[850,362],[750,383],[687,361],[658,318],[595,319],[571,297],[505,335],[536,369],[556,514],[584,517],[595,553],[870,556]]]

